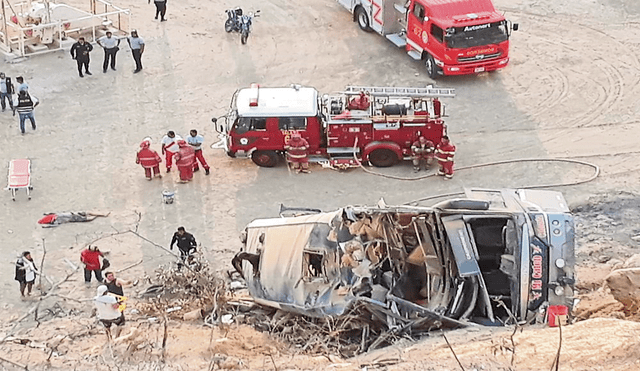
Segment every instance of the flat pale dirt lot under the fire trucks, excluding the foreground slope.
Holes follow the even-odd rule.
[[[140,74],[133,74],[125,44],[117,72],[101,73],[102,51],[96,48],[94,74],[84,79],[77,76],[68,51],[3,65],[7,76],[24,76],[41,100],[38,129],[28,129],[24,136],[17,117],[9,111],[0,114],[0,160],[6,164],[30,158],[35,188],[31,201],[24,194],[15,202],[8,193],[0,198],[0,252],[7,272],[0,276],[3,318],[15,318],[30,306],[16,295],[12,264],[25,249],[38,261],[43,239],[47,271],[54,278],[63,276],[63,258],[78,262],[80,248],[88,242],[134,229],[168,245],[181,225],[194,233],[219,269],[228,269],[240,246],[239,231],[254,218],[275,216],[281,203],[330,210],[372,204],[381,197],[389,204],[403,203],[463,187],[522,187],[590,176],[586,167],[541,162],[463,170],[450,182],[397,181],[358,169],[319,167],[298,176],[285,166],[263,169],[250,160],[230,159],[209,148],[217,140],[210,119],[225,113],[239,87],[300,83],[334,92],[349,84],[434,83],[421,63],[384,38],[360,31],[335,1],[244,1],[245,10],[262,10],[247,45],[223,30],[224,9],[236,3],[170,2],[168,21],[160,23],[153,20],[152,4],[117,2],[133,11],[133,27],[147,43]],[[521,26],[512,37],[509,67],[437,81],[457,92],[446,101],[449,133],[458,147],[456,165],[579,159],[599,165],[602,172],[593,182],[557,188],[571,205],[585,204],[594,195],[615,199],[620,191],[637,194],[640,5],[619,0],[495,4]],[[185,136],[192,128],[206,137],[211,175],[196,173],[186,185],[177,184],[175,173],[145,180],[134,162],[141,139],[151,136],[152,147],[159,150],[167,130]],[[410,177],[410,170],[410,164],[403,164],[381,172]],[[163,190],[176,191],[174,204],[162,203]],[[94,209],[112,214],[52,229],[36,224],[46,212]],[[628,239],[630,226],[621,228],[628,233],[620,243],[629,253],[637,252],[637,243]],[[98,244],[111,250],[116,268],[144,259],[126,273],[132,279],[171,261],[161,249],[131,235]],[[81,281],[77,273],[66,292],[74,293]],[[91,296],[92,289],[80,295]]]

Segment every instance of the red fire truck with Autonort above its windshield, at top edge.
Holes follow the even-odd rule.
[[[495,71],[509,63],[518,30],[491,0],[338,0],[361,29],[375,31],[415,60],[429,77]]]

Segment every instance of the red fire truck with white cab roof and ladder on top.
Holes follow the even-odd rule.
[[[250,157],[273,167],[293,132],[309,142],[310,161],[347,168],[366,161],[388,167],[409,159],[420,136],[439,143],[446,134],[440,98],[454,89],[349,86],[319,96],[311,87],[262,88],[253,84],[233,95],[218,147],[231,157]],[[357,161],[356,161],[357,159]]]

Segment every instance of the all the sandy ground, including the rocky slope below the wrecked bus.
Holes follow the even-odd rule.
[[[68,3],[84,4],[73,0]],[[161,328],[131,314],[127,331],[144,333],[139,349],[131,343],[102,347],[104,333],[90,317],[96,284],[76,272],[57,292],[66,298],[43,301],[43,318],[16,324],[38,297],[20,300],[13,264],[23,250],[59,282],[79,264],[88,243],[109,251],[119,276],[137,281],[127,288],[129,310],[152,281],[154,270],[173,261],[144,239],[168,246],[178,226],[192,232],[207,259],[222,274],[240,248],[239,232],[249,221],[276,216],[280,204],[331,210],[347,204],[373,204],[384,197],[398,204],[464,187],[523,187],[573,183],[592,169],[580,164],[526,162],[461,170],[450,182],[428,178],[398,181],[313,167],[296,176],[285,166],[256,167],[209,147],[217,141],[210,119],[226,112],[232,93],[259,82],[264,86],[300,83],[320,92],[346,85],[424,86],[434,83],[421,63],[393,44],[360,31],[333,0],[248,0],[169,2],[168,21],[153,20],[154,6],[120,0],[132,10],[132,24],[146,41],[144,70],[133,74],[129,48],[121,45],[117,72],[101,73],[102,51],[92,53],[93,76],[80,79],[68,51],[5,63],[7,76],[22,75],[41,100],[37,130],[21,136],[17,117],[0,113],[0,160],[32,160],[33,199],[0,198],[0,339],[12,333],[29,344],[5,343],[0,357],[29,369],[336,369],[451,370],[460,367],[439,333],[418,343],[401,342],[355,359],[302,354],[252,328],[228,325],[213,330],[172,319],[164,363]],[[223,30],[224,10],[242,5],[261,9],[248,44]],[[512,37],[510,65],[497,73],[443,78],[456,88],[446,101],[449,134],[457,145],[456,166],[529,158],[566,158],[599,167],[591,182],[554,187],[576,214],[579,320],[562,328],[560,368],[635,370],[640,367],[640,324],[624,318],[621,305],[603,286],[604,277],[640,253],[640,4],[624,0],[496,0],[520,24]],[[83,5],[84,6],[84,5]],[[28,125],[27,125],[28,127]],[[177,184],[177,174],[148,182],[134,162],[141,139],[152,147],[167,130],[185,136],[196,128],[212,172]],[[379,171],[379,170],[376,170]],[[411,177],[410,164],[383,169]],[[162,191],[176,192],[174,204]],[[47,212],[100,210],[107,218],[42,229]],[[637,237],[637,238],[634,238]],[[43,285],[51,284],[43,280]],[[549,369],[556,357],[558,328],[472,329],[447,333],[464,369]],[[72,336],[68,336],[71,333]],[[61,334],[67,334],[62,338]],[[135,335],[135,334],[134,334]],[[58,336],[58,338],[56,338]],[[513,341],[512,341],[513,339]],[[57,344],[56,344],[57,342]],[[146,344],[146,345],[145,345]],[[55,348],[55,351],[53,351]],[[514,351],[515,349],[515,351]],[[49,359],[47,361],[47,359]],[[0,361],[2,369],[16,369]]]

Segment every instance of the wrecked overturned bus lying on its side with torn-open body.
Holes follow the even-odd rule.
[[[386,327],[433,329],[569,313],[574,223],[562,194],[465,192],[433,207],[254,220],[233,265],[257,303],[311,317],[364,305]]]

